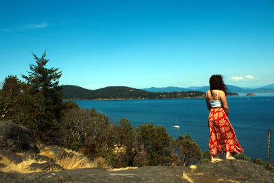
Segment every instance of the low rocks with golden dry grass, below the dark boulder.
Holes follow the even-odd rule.
[[[56,145],[42,146],[39,152],[16,153],[0,149],[0,171],[5,173],[32,173],[66,169],[108,168],[103,158],[92,161],[83,154]]]

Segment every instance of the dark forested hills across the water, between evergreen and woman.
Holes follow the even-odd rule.
[[[64,99],[186,99],[205,97],[205,93],[199,91],[153,93],[126,86],[109,86],[98,90],[88,90],[79,86],[64,85],[62,90]]]

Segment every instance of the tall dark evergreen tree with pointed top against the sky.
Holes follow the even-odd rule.
[[[36,64],[31,64],[31,71],[22,77],[31,86],[29,94],[40,97],[42,106],[39,107],[42,112],[36,116],[36,119],[39,121],[38,130],[42,130],[43,127],[54,127],[60,122],[64,103],[62,102],[62,87],[58,84],[62,73],[58,71],[59,69],[45,67],[49,62],[45,58],[46,52],[42,54],[41,58],[32,54]]]

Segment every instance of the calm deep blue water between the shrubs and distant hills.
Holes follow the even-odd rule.
[[[151,99],[122,101],[75,101],[80,108],[102,112],[115,123],[126,118],[132,125],[153,122],[166,127],[177,138],[188,133],[201,149],[208,149],[208,109],[205,99]],[[229,121],[238,141],[251,158],[267,160],[269,128],[274,130],[274,95],[227,97]],[[177,121],[177,122],[176,122]],[[180,126],[175,129],[172,126]],[[271,161],[274,161],[274,132],[271,134]]]

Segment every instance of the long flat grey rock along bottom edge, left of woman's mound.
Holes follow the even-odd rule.
[[[45,173],[0,173],[5,182],[188,182],[182,179],[184,167],[142,167],[124,171],[71,169]]]

